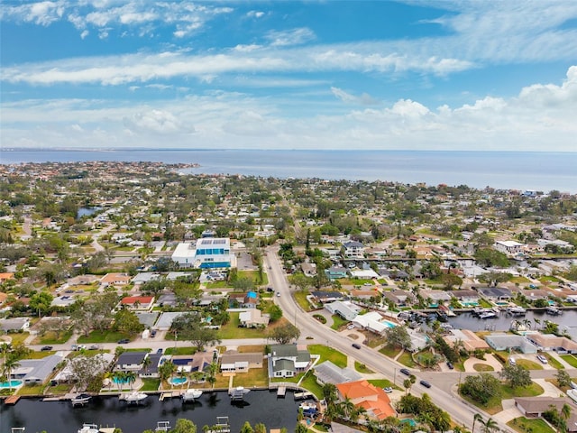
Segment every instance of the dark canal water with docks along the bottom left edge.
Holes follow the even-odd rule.
[[[174,427],[179,418],[192,420],[202,432],[203,426],[215,425],[218,417],[228,417],[233,433],[241,430],[244,421],[252,427],[261,422],[267,430],[284,427],[294,431],[297,416],[298,401],[292,392],[282,399],[276,392],[252,391],[244,401],[234,403],[226,392],[205,393],[194,403],[177,398],[159,401],[158,395],[150,395],[140,405],[129,405],[117,397],[96,397],[82,408],[72,408],[69,401],[20,399],[14,406],[0,406],[0,433],[10,433],[12,427],[25,427],[26,433],[77,433],[83,423],[142,433],[147,428],[154,430],[162,420]]]

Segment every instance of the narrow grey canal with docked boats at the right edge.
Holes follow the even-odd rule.
[[[511,317],[505,311],[501,311],[497,318],[477,318],[471,313],[461,313],[455,318],[449,318],[448,322],[458,329],[470,329],[472,331],[508,331],[511,326],[511,321],[514,319],[520,320],[528,319],[531,325],[531,329],[534,329],[536,323],[534,319],[537,319],[541,324],[537,324],[537,327],[543,327],[543,322],[545,320],[550,320],[559,325],[559,330],[563,332],[563,329],[567,327],[575,328],[577,327],[577,309],[563,309],[563,314],[559,316],[552,316],[546,314],[543,310],[529,310],[526,316],[520,316],[517,318]]]

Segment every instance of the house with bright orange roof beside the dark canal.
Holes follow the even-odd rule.
[[[390,404],[389,395],[366,380],[337,383],[336,390],[341,401],[349,399],[355,407],[364,408],[366,418],[380,420],[397,415]]]

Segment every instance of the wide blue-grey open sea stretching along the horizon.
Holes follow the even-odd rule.
[[[0,151],[0,163],[161,161],[198,163],[191,173],[383,180],[482,189],[577,193],[577,152],[109,150]]]

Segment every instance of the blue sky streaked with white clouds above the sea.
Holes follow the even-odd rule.
[[[4,0],[9,147],[577,152],[577,2]]]

